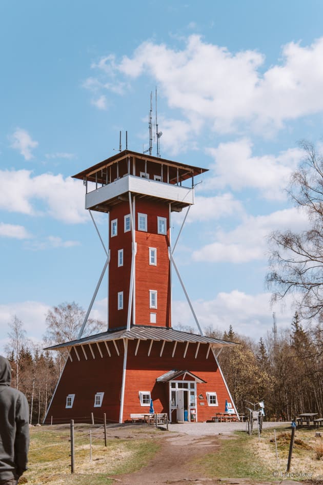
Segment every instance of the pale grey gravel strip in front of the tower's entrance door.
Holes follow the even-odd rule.
[[[192,436],[212,436],[230,434],[233,431],[246,431],[247,423],[178,423],[169,424],[169,431],[185,433]],[[267,428],[290,428],[288,421],[263,422],[263,429]]]

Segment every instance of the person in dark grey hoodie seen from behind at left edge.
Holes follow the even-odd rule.
[[[10,363],[0,356],[0,485],[18,483],[28,461],[28,402],[10,382]]]

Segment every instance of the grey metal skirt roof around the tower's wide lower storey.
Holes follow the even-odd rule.
[[[215,339],[213,337],[205,337],[203,335],[190,334],[188,332],[181,332],[173,328],[133,325],[130,330],[126,328],[109,330],[96,335],[90,335],[78,340],[64,342],[57,345],[46,347],[45,350],[59,350],[64,347],[72,347],[74,345],[104,342],[112,340],[165,340],[166,342],[192,342],[192,343],[209,343],[213,347],[226,347],[231,345],[238,345],[236,342],[229,340]]]

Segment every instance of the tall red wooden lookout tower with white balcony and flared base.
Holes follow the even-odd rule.
[[[68,358],[45,422],[86,421],[91,413],[124,422],[148,414],[151,400],[172,422],[209,420],[225,411],[226,401],[235,410],[217,362],[233,343],[203,336],[174,261],[177,240],[171,241],[171,213],[189,210],[195,180],[205,171],[125,150],[74,176],[86,186],[90,214],[109,214],[109,245],[79,338],[50,347],[68,351]],[[82,337],[106,271],[107,331]],[[198,335],[172,328],[175,273]]]

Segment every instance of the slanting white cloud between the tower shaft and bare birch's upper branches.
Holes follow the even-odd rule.
[[[245,263],[264,259],[268,251],[268,235],[273,230],[300,231],[308,228],[308,217],[296,208],[273,212],[269,216],[247,216],[231,231],[219,229],[215,241],[193,251],[194,261],[229,261]]]

